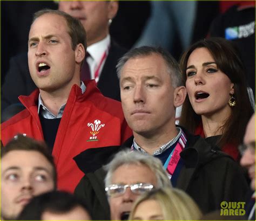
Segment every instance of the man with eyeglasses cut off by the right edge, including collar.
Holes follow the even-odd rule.
[[[242,156],[240,164],[248,170],[253,191],[251,200],[246,203],[246,214],[248,219],[255,220],[255,114],[248,122],[244,144],[239,147],[239,150]]]

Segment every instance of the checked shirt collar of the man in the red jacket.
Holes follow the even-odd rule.
[[[80,88],[82,89],[82,94],[84,94],[84,92],[86,91],[86,86],[84,85],[83,81],[80,81],[80,82],[81,82]],[[66,103],[64,103],[64,105],[60,107],[58,114],[54,115],[53,113],[50,112],[50,110],[47,107],[44,106],[43,100],[41,98],[41,94],[39,94],[37,112],[38,114],[41,113],[43,118],[45,119],[62,118],[65,106],[66,106]]]

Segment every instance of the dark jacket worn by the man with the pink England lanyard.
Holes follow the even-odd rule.
[[[186,191],[203,213],[220,209],[222,201],[244,201],[249,187],[240,166],[200,136],[184,132],[187,143],[180,153],[184,165],[176,188]],[[77,185],[75,195],[85,200],[93,219],[110,219],[104,191],[106,172],[102,165],[109,162],[117,151],[130,148],[132,141],[133,137],[130,137],[122,147],[87,149],[74,158],[79,169],[86,174]]]

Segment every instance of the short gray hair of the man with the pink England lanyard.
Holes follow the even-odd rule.
[[[174,88],[184,86],[178,62],[171,56],[171,54],[168,51],[164,50],[162,47],[153,46],[137,47],[125,53],[124,56],[118,60],[118,64],[116,66],[118,79],[120,80],[123,67],[129,59],[137,57],[146,57],[154,53],[158,54],[164,59],[166,63],[167,72],[170,74],[172,80],[172,86]]]

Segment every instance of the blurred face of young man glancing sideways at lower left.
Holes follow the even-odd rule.
[[[16,219],[33,196],[54,189],[53,167],[38,151],[12,150],[2,157],[2,217]]]

